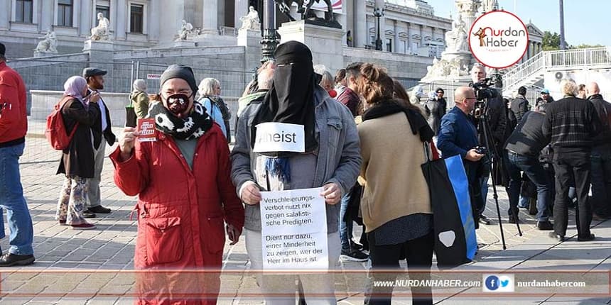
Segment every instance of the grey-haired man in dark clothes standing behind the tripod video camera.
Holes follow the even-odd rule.
[[[475,90],[477,103],[475,104],[475,109],[472,114],[475,120],[475,126],[477,126],[477,136],[480,146],[487,147],[489,153],[488,157],[485,158],[480,174],[480,192],[482,194],[483,204],[479,213],[480,223],[489,225],[490,218],[485,216],[483,212],[486,209],[486,197],[488,195],[488,179],[490,178],[491,167],[490,160],[494,159],[494,157],[496,157],[496,160],[499,160],[499,162],[494,164],[494,168],[492,168],[493,174],[495,175],[494,177],[498,177],[495,181],[497,184],[507,184],[507,179],[505,179],[504,174],[502,174],[505,167],[502,164],[503,158],[501,155],[506,138],[507,106],[504,105],[502,96],[497,89],[490,87],[493,84],[492,79],[486,78],[486,76],[484,66],[479,64],[473,65],[471,69],[471,79],[473,82],[470,84],[470,87]],[[488,147],[485,139],[485,121],[482,120],[483,116],[487,118],[488,144],[490,147]]]

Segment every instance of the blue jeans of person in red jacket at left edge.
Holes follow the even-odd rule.
[[[6,209],[6,220],[9,221],[9,253],[16,255],[34,254],[32,242],[34,228],[26,199],[23,197],[21,175],[19,174],[19,157],[23,155],[25,143],[0,148],[0,238],[4,238],[4,218],[2,210]]]

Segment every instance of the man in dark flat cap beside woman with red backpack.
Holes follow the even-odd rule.
[[[104,75],[106,71],[88,67],[82,70],[82,77],[87,79],[88,94],[104,89]],[[102,206],[102,200],[99,191],[99,182],[102,179],[102,167],[104,167],[104,151],[106,143],[113,145],[117,137],[112,133],[112,123],[110,121],[110,111],[102,96],[97,101],[99,106],[100,116],[98,116],[94,125],[93,131],[93,148],[94,148],[94,177],[89,181],[89,192],[87,193],[87,209],[83,211],[85,218],[95,218],[95,214],[109,214],[110,209]],[[104,138],[104,140],[102,140]]]

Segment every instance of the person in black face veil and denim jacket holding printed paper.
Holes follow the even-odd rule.
[[[274,57],[276,70],[271,88],[263,101],[253,101],[239,116],[232,150],[232,179],[246,204],[247,253],[252,269],[263,269],[260,189],[282,191],[321,187],[323,192],[320,196],[325,197],[326,203],[328,268],[333,269],[342,248],[338,233],[338,203],[355,184],[362,162],[357,128],[347,107],[332,99],[316,83],[312,53],[306,45],[288,41],[276,48]],[[259,123],[303,126],[304,136],[299,140],[305,151],[254,153]],[[290,224],[284,226],[291,228]],[[291,259],[288,255],[275,258],[283,257]],[[332,274],[257,275],[268,304],[274,301],[294,303],[295,298],[291,296],[297,291],[296,279],[301,281],[308,304],[317,298],[317,304],[336,304]]]

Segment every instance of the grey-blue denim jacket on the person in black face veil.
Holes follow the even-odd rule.
[[[346,106],[332,99],[321,87],[314,92],[315,133],[318,138],[318,157],[314,170],[315,187],[333,182],[342,195],[355,184],[362,158],[359,149],[359,135],[352,113]],[[256,182],[254,172],[256,154],[251,148],[251,126],[260,103],[249,104],[239,116],[235,146],[231,153],[232,180],[239,194],[245,182]],[[259,204],[245,205],[246,219],[244,228],[261,231]],[[340,204],[326,204],[328,233],[337,231]]]

